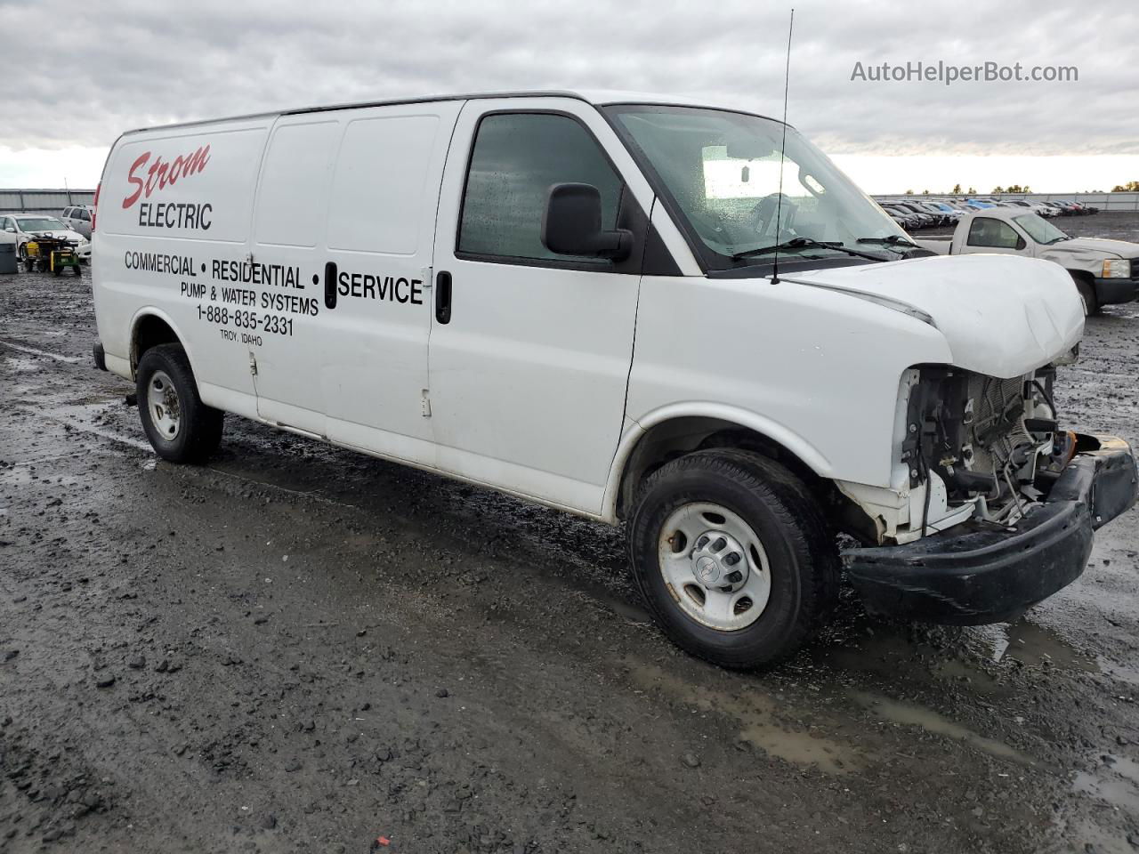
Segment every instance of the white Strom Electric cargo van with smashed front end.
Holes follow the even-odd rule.
[[[167,460],[232,412],[624,524],[664,631],[723,665],[792,652],[843,565],[872,611],[1023,611],[1136,496],[1052,404],[1071,279],[921,257],[793,129],[780,183],[782,138],[592,92],[125,133],[96,358]]]

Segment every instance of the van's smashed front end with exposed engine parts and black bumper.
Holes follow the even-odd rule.
[[[1136,462],[1122,440],[1060,427],[1054,378],[1051,366],[1011,379],[945,366],[907,371],[898,488],[875,496],[841,485],[871,508],[872,540],[863,539],[878,544],[843,553],[868,610],[999,622],[1083,572],[1092,532],[1136,501]]]

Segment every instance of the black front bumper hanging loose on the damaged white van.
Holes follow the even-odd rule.
[[[1006,528],[969,522],[907,545],[850,549],[843,563],[866,609],[977,625],[1022,614],[1083,573],[1092,532],[1136,502],[1128,443],[1080,436],[1046,503]]]

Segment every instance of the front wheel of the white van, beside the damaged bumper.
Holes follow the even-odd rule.
[[[708,507],[722,508],[730,516],[724,520],[726,516],[719,511],[707,514],[704,509]],[[694,543],[679,528],[670,533],[677,518],[688,519],[680,524],[690,528],[695,525],[696,529],[705,525],[714,529],[718,523],[707,519],[723,520],[729,549],[734,548],[730,543],[743,543],[743,537],[734,539],[730,533],[738,529],[739,522],[746,523],[757,537],[767,570],[751,570],[745,584],[752,585],[753,578],[756,583],[765,578],[767,598],[759,615],[751,617],[754,622],[723,629],[700,617],[700,609],[721,596],[718,590],[729,588],[705,591],[696,578],[696,569],[689,580],[683,576],[685,567],[696,566],[691,556],[700,550],[700,543],[712,548],[721,539],[713,533],[711,542],[699,535]],[[682,537],[686,542],[678,543]],[[640,491],[630,520],[629,550],[634,582],[664,633],[691,655],[723,667],[754,670],[786,659],[825,621],[837,601],[838,551],[817,501],[784,466],[749,451],[697,451],[657,469]],[[746,545],[743,551],[755,557]],[[669,564],[670,552],[677,553],[677,564]],[[745,560],[747,566],[756,566],[751,558]],[[673,568],[665,568],[662,561]],[[677,580],[677,567],[683,576],[680,591],[678,584],[666,581],[666,575]],[[719,570],[730,568],[721,565]],[[700,594],[706,593],[711,598],[698,602]],[[740,588],[722,596],[729,599],[721,601],[731,603],[728,622],[747,618],[747,590]],[[735,602],[736,596],[743,596],[740,602]],[[740,603],[745,610],[737,615]],[[710,610],[705,616],[711,614]]]

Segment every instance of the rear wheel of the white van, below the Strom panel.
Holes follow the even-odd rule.
[[[221,443],[223,412],[207,407],[180,344],[158,344],[139,360],[139,418],[155,453],[171,462],[205,462]]]

